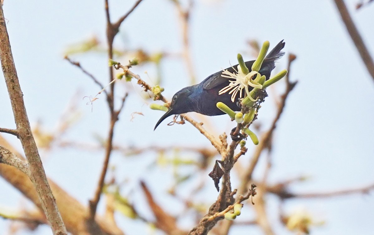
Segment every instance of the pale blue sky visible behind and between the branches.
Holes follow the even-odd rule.
[[[356,1],[346,1],[347,6],[374,55],[374,5],[355,11]],[[110,1],[112,19],[127,12],[133,2]],[[42,120],[43,125],[52,130],[77,89],[82,97],[98,92],[98,87],[90,79],[62,58],[64,49],[71,43],[92,35],[105,40],[103,6],[102,1],[88,0],[5,1],[3,8],[12,52],[31,122]],[[234,64],[238,52],[248,51],[247,39],[269,40],[270,47],[284,39],[285,52],[297,55],[291,79],[298,80],[298,84],[287,100],[276,129],[270,181],[311,176],[309,181],[292,186],[297,192],[352,188],[373,182],[374,83],[346,33],[333,1],[196,1],[190,17],[191,56],[199,82],[228,67],[229,61]],[[151,52],[177,52],[181,49],[177,12],[167,0],[144,0],[120,30],[115,44],[122,48],[142,47]],[[244,57],[252,59],[248,55]],[[103,83],[107,82],[105,56],[89,53],[73,59],[80,61]],[[286,57],[282,58],[276,70],[285,68],[286,61]],[[134,67],[134,72],[147,80],[144,71],[148,71],[154,80],[156,70],[153,66]],[[162,71],[166,97],[170,98],[189,85],[186,68],[179,60],[165,59]],[[138,88],[135,82],[133,84]],[[282,92],[281,88],[281,85],[277,86],[278,93]],[[120,97],[126,90],[132,90],[132,86],[119,85],[117,95]],[[264,125],[269,125],[274,116],[272,95],[274,93],[260,110],[259,119]],[[0,101],[0,126],[12,128],[12,110],[2,75]],[[82,119],[64,138],[94,142],[93,133],[105,137],[108,114],[104,97],[95,101],[93,112],[85,100],[78,101]],[[130,122],[132,112],[142,112],[144,116],[136,116]],[[167,126],[165,121],[154,132],[153,127],[161,115],[162,112],[148,109],[139,92],[132,92],[116,127],[115,142],[125,146],[209,145],[189,124]],[[233,126],[225,116],[206,117],[206,120],[215,126],[215,134],[227,132]],[[6,137],[19,146],[16,138]],[[253,147],[248,147],[248,153],[241,159],[243,164],[251,156]],[[102,157],[102,152],[56,149],[44,157],[45,169],[49,177],[87,204],[96,187]],[[141,159],[149,165],[155,156],[145,154]],[[131,178],[127,190],[139,191],[137,180],[140,178],[150,185],[156,183],[156,178],[161,178],[165,180],[164,188],[172,181],[171,169],[153,170],[148,174],[148,165],[140,164],[135,158],[125,159],[115,153],[111,163],[117,164],[119,178]],[[255,171],[257,176],[263,172],[263,163],[261,161]],[[233,184],[235,187],[235,182]],[[2,179],[0,188],[0,206],[20,205],[19,193]],[[151,186],[151,189],[157,192],[156,186]],[[206,193],[213,201],[217,192],[212,187]],[[137,192],[137,196],[142,195]],[[157,199],[160,202],[172,201],[175,212],[182,210],[181,205],[169,197],[159,195]],[[100,206],[102,209],[103,205]],[[286,204],[285,209],[292,211],[299,207],[306,208],[317,220],[326,221],[324,226],[313,229],[312,234],[370,234],[372,231],[372,195],[293,200]],[[270,219],[277,224],[277,234],[290,234],[278,225],[277,213],[273,212],[277,211],[273,197],[269,198],[269,209]],[[146,213],[146,209],[143,211]],[[250,219],[252,214],[240,217]],[[122,216],[117,218],[126,234],[137,234],[131,228],[138,228],[139,223],[134,226]],[[188,225],[188,222],[181,224]],[[0,231],[4,231],[7,225],[7,221],[0,219]],[[239,233],[241,229],[238,227],[231,234]],[[251,228],[248,232],[255,233],[258,229]],[[40,227],[36,234],[50,234],[50,229]]]

